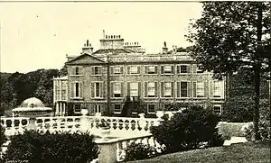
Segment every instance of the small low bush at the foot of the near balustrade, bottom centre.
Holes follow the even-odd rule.
[[[155,156],[157,156],[157,151],[154,147],[145,145],[143,143],[132,142],[130,145],[127,146],[125,151],[126,151],[125,158],[126,161],[154,158]]]

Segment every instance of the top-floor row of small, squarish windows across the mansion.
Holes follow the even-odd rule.
[[[101,66],[92,67],[91,75],[98,76],[102,75],[102,68]],[[158,66],[145,66],[145,74],[158,74]],[[191,65],[177,65],[176,74],[189,74],[192,73]],[[203,73],[203,71],[197,69],[197,73]],[[114,66],[110,68],[111,75],[123,75],[124,74],[124,67],[123,66]],[[131,75],[139,75],[141,74],[140,66],[128,66],[127,67],[127,74]],[[164,75],[173,75],[174,74],[174,66],[173,65],[166,65],[161,66],[161,74]],[[80,67],[75,67],[72,75],[82,75]]]

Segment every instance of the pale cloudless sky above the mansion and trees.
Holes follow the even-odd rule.
[[[187,47],[184,35],[201,11],[197,2],[0,3],[1,72],[61,68],[87,40],[98,50],[103,30],[148,53],[161,52],[164,41]]]

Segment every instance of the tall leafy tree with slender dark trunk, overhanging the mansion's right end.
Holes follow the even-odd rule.
[[[270,71],[271,6],[266,2],[204,2],[201,18],[192,23],[192,57],[214,77],[232,75],[238,68],[253,71],[255,139],[259,140],[260,76]]]

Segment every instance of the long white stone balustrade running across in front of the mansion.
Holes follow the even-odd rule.
[[[63,116],[63,117],[37,117],[33,120],[27,117],[1,117],[5,127],[5,134],[14,135],[17,131],[31,126],[38,131],[98,131],[99,124],[107,122],[111,132],[122,133],[149,133],[150,127],[159,123],[152,118],[106,117],[106,116]],[[30,125],[32,124],[32,125]]]

